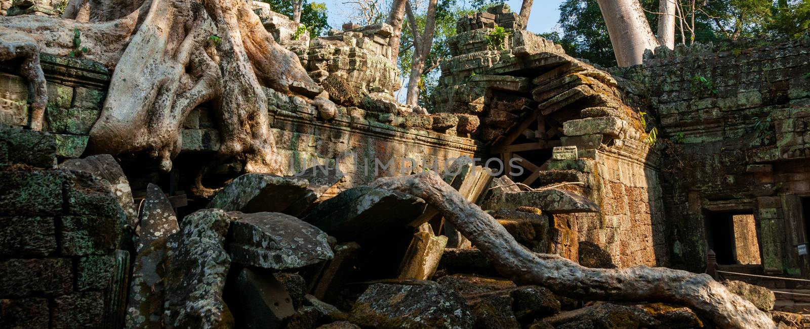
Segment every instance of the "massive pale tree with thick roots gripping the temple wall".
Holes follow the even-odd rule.
[[[95,17],[105,12],[120,14],[97,11]],[[168,171],[180,152],[185,116],[208,102],[220,129],[220,158],[237,156],[245,171],[274,173],[283,163],[275,155],[262,86],[302,95],[323,118],[335,116],[329,95],[295,53],[275,43],[244,0],[151,0],[110,22],[25,15],[2,17],[0,26],[0,32],[27,33],[41,51],[62,56],[75,50],[73,31],[79,29],[88,48],[82,56],[115,68],[90,132],[87,149],[95,154],[147,154]],[[0,39],[0,49],[10,45]]]

